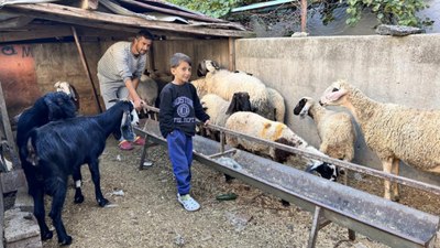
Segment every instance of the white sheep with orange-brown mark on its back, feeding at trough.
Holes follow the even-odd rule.
[[[234,112],[228,118],[224,127],[235,132],[287,144],[326,157],[322,152],[309,145],[285,123],[268,120],[254,112]],[[268,155],[273,160],[280,163],[286,162],[289,157],[293,155],[284,150],[276,149],[264,143],[254,142],[245,138],[238,138],[231,134],[227,134],[227,143],[234,148],[244,148],[245,150],[255,152],[257,154]],[[334,165],[312,159],[305,159],[305,161],[309,165],[307,171],[317,171],[322,177],[332,181],[337,180],[338,171]]]

